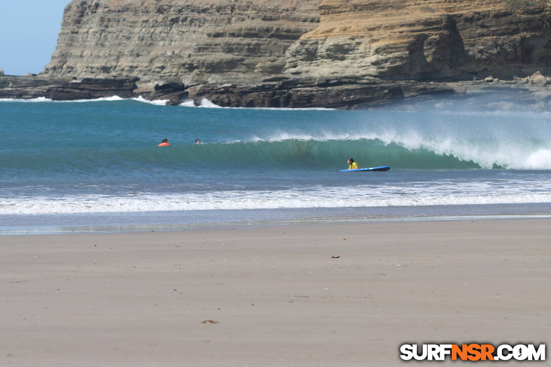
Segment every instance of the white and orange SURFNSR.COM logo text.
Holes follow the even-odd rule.
[[[545,344],[403,344],[403,360],[545,360]]]

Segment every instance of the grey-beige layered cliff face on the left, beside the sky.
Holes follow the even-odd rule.
[[[42,75],[186,84],[279,74],[320,0],[74,0]]]

